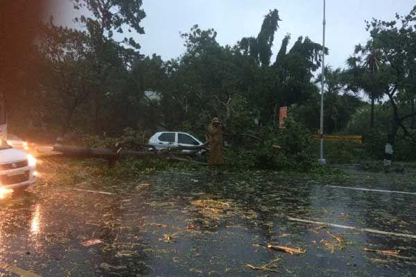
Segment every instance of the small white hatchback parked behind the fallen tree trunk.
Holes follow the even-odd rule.
[[[158,132],[150,137],[149,144],[155,146],[157,150],[161,150],[166,148],[175,148],[178,146],[201,146],[203,143],[188,133]],[[190,152],[192,150],[183,151]]]

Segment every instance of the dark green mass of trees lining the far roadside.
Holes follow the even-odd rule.
[[[221,45],[213,28],[191,26],[180,33],[184,53],[163,60],[141,55],[139,42],[131,38],[133,32],[144,34],[141,0],[71,3],[80,12],[74,19],[78,28],[56,26],[51,19],[32,46],[40,70],[26,76],[40,105],[21,108],[22,117],[42,115],[38,121],[56,132],[111,135],[124,128],[203,135],[207,122],[220,117],[227,132],[253,135],[277,128],[279,107],[288,106],[290,117],[318,130],[317,70],[329,49],[322,53],[322,45],[306,34],[286,34],[272,53],[284,24],[278,10],[268,11],[257,35],[235,45]],[[371,101],[370,126],[380,110],[389,112],[377,103],[388,99],[390,135],[415,137],[415,9],[392,22],[367,22],[370,38],[352,49],[345,68],[324,70],[325,133],[347,130],[356,112],[367,110],[360,98],[365,93]]]

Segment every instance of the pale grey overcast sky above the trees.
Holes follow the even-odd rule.
[[[281,22],[275,34],[273,53],[281,40],[291,33],[291,44],[298,36],[309,36],[322,43],[322,0],[143,0],[146,18],[142,21],[145,35],[136,35],[141,53],[157,53],[165,60],[184,53],[180,31],[194,24],[214,28],[218,42],[234,45],[242,37],[257,36],[263,17],[277,8]],[[62,2],[61,2],[62,3]],[[354,45],[365,43],[365,19],[390,20],[395,12],[406,15],[415,0],[327,0],[327,63],[343,67],[354,51]],[[70,6],[67,6],[70,8]],[[62,15],[58,15],[58,17]],[[65,17],[73,17],[68,10]]]

